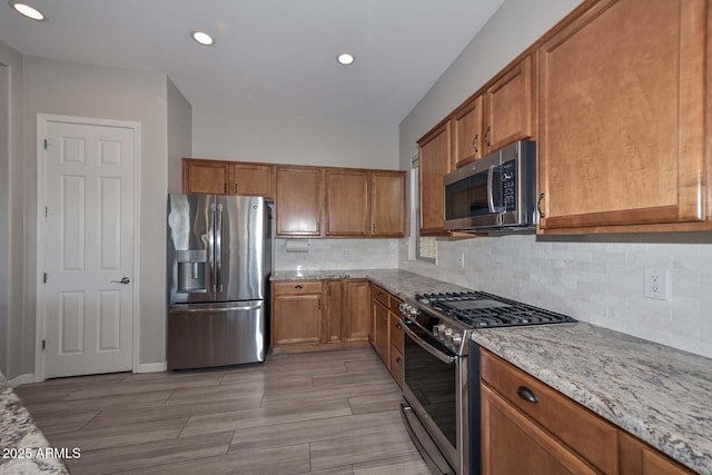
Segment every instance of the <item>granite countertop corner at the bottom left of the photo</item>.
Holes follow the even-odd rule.
[[[69,474],[0,373],[0,473]]]

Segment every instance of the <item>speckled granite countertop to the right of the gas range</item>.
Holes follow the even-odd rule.
[[[585,323],[473,342],[702,474],[712,474],[712,359]]]

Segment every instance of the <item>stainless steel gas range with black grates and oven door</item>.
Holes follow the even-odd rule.
[[[483,291],[418,294],[399,309],[402,414],[411,437],[433,473],[479,474],[479,355],[471,355],[472,333],[576,320]]]

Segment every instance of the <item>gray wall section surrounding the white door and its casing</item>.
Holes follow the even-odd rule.
[[[24,331],[21,373],[33,373],[36,308],[37,115],[56,113],[141,123],[140,363],[165,362],[167,81],[131,71],[24,57]],[[21,232],[13,229],[13,235]]]

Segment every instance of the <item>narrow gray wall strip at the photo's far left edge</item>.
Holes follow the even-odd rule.
[[[0,41],[0,370],[12,378],[28,363],[22,360],[22,57]]]

